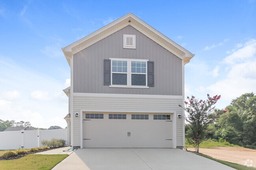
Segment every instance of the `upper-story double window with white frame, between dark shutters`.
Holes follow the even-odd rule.
[[[147,87],[147,61],[139,59],[110,58],[110,87]]]

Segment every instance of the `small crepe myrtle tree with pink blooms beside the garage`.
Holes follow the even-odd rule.
[[[188,101],[185,101],[185,107],[182,107],[186,112],[185,120],[189,123],[190,137],[187,140],[189,144],[195,147],[195,152],[199,152],[199,144],[205,140],[205,134],[210,132],[207,130],[208,125],[213,123],[217,115],[213,113],[215,103],[221,98],[221,95],[210,97],[207,94],[206,100],[196,99],[195,96],[187,96]]]

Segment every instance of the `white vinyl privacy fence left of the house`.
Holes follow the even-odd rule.
[[[43,139],[64,139],[67,144],[67,129],[19,130],[0,132],[0,150],[40,147]]]

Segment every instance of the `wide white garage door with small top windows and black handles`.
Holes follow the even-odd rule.
[[[83,114],[84,148],[171,148],[171,114]]]

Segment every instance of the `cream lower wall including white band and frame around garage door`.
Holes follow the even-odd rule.
[[[74,93],[73,146],[83,147],[83,112],[170,113],[173,116],[173,148],[183,146],[182,96]]]

